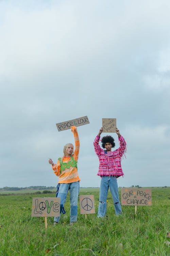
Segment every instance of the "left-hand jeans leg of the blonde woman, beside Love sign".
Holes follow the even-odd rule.
[[[62,213],[62,209],[63,206],[66,202],[66,197],[68,194],[68,189],[69,189],[69,183],[61,183],[60,188],[59,188],[59,192],[58,192],[58,196],[60,197],[60,216],[58,217],[54,217],[54,221],[55,222],[59,222],[60,221],[60,217],[61,217],[61,213]]]

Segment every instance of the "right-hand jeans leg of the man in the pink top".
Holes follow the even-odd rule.
[[[117,185],[117,179],[114,176],[110,176],[109,179],[109,188],[111,190],[111,194],[113,197],[114,201],[114,207],[115,207],[115,214],[121,214],[122,209],[121,209],[121,204],[119,200],[119,191],[118,191],[118,185]]]

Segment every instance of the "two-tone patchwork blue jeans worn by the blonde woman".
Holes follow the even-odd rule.
[[[80,189],[79,181],[72,182],[72,183],[61,183],[58,196],[57,196],[57,197],[60,197],[60,216],[54,217],[55,222],[60,221],[62,209],[66,202],[68,190],[70,190],[70,222],[77,221],[79,189]]]

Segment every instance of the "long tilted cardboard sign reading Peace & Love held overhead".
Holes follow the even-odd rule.
[[[66,121],[63,123],[56,124],[58,131],[65,131],[70,129],[71,126],[81,126],[89,124],[89,120],[87,116],[79,117],[76,119],[72,119],[70,121]]]

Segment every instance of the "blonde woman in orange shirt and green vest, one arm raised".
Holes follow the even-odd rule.
[[[64,211],[64,204],[66,202],[66,197],[68,190],[70,190],[70,224],[77,221],[78,212],[78,196],[80,189],[80,177],[77,169],[77,161],[79,157],[79,134],[77,127],[71,126],[71,131],[74,134],[75,150],[73,152],[73,144],[68,143],[64,146],[63,153],[64,156],[58,158],[57,164],[54,164],[52,159],[49,159],[49,163],[52,165],[54,173],[59,176],[59,181],[57,185],[58,194],[60,197],[60,216],[61,212]],[[59,217],[54,217],[54,224],[60,221]]]

